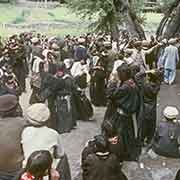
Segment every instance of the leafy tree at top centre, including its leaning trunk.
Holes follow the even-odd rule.
[[[96,20],[92,23],[96,31],[118,33],[119,25],[130,27],[132,34],[145,38],[140,24],[144,0],[67,0],[69,7],[83,18]],[[129,23],[127,25],[127,23]]]

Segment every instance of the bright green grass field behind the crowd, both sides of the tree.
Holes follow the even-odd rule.
[[[23,8],[8,4],[0,4],[0,24],[33,24],[33,23],[61,23],[60,28],[53,28],[43,30],[43,33],[50,35],[65,34],[79,35],[83,32],[88,31],[88,25],[90,22],[87,19],[81,19],[75,13],[70,11],[67,7],[57,7],[54,9],[43,9],[43,8]],[[145,14],[146,22],[144,27],[148,31],[154,32],[157,28],[162,15],[147,13]],[[0,35],[7,36],[9,34],[18,33],[21,31],[27,31],[28,29],[17,29],[17,28],[2,28],[0,27]],[[37,29],[37,31],[39,31]],[[40,30],[42,31],[42,30]]]

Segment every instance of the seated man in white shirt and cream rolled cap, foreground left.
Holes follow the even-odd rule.
[[[23,167],[27,165],[27,160],[34,151],[48,150],[53,157],[52,168],[59,172],[60,179],[71,180],[69,163],[61,145],[60,135],[46,126],[49,117],[50,111],[45,104],[33,104],[27,109],[25,118],[29,125],[21,135],[25,157]]]

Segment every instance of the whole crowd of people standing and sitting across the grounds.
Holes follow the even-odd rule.
[[[178,109],[167,106],[158,127],[156,113],[161,84],[175,83],[179,45],[127,31],[118,42],[106,33],[0,38],[0,179],[71,180],[60,134],[93,120],[94,107],[107,108],[101,134],[82,151],[83,180],[126,180],[123,161],[138,162],[143,147],[179,158]]]

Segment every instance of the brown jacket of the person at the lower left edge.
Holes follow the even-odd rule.
[[[0,118],[0,171],[19,170],[23,161],[21,133],[26,121],[21,117]]]

